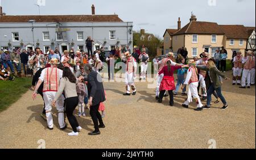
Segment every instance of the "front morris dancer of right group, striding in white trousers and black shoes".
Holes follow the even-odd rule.
[[[188,62],[188,72],[187,72],[187,77],[186,80],[184,82],[184,85],[187,84],[188,85],[188,98],[187,100],[183,103],[183,107],[188,109],[188,105],[189,103],[192,102],[192,97],[196,100],[197,103],[197,109],[195,109],[195,111],[201,111],[203,110],[203,104],[201,103],[200,97],[198,96],[198,92],[197,92],[197,86],[198,86],[198,73],[197,73],[197,68],[195,67],[195,62],[194,60],[189,60]],[[183,89],[184,85],[181,87],[181,89]]]

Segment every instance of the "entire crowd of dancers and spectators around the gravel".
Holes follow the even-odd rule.
[[[115,46],[106,57],[104,49],[92,52],[90,43],[93,40],[88,37],[86,46],[89,45],[88,52],[81,52],[73,48],[60,53],[49,49],[47,53],[37,47],[33,50],[14,49],[12,53],[3,50],[1,54],[2,80],[14,80],[14,67],[16,72],[32,72],[32,94],[33,100],[40,94],[44,101],[44,109],[41,116],[47,120],[48,129],[53,129],[52,107],[56,106],[58,111],[58,121],[61,130],[67,128],[65,116],[72,126],[73,132],[69,136],[77,136],[81,127],[77,122],[74,110],[78,106],[78,116],[85,115],[85,107],[90,110],[95,130],[89,135],[99,135],[100,129],[105,128],[102,118],[105,116],[106,95],[101,76],[98,74],[104,69],[103,62],[108,64],[109,80],[114,80],[115,64],[125,63],[125,89],[123,96],[135,96],[137,88],[135,79],[137,69],[140,67],[139,80],[145,80],[147,75],[148,62],[150,61],[146,46],[134,48],[129,46]],[[241,85],[240,88],[250,88],[254,85],[255,79],[255,53],[246,51],[242,57],[241,51],[237,51],[233,57],[233,85]],[[225,49],[216,51],[213,58],[209,58],[209,53],[204,51],[200,58],[187,58],[187,49],[183,47],[177,53],[170,52],[163,59],[156,57],[152,60],[154,70],[158,71],[155,99],[163,103],[163,97],[170,96],[170,106],[174,106],[174,96],[182,90],[182,95],[187,96],[183,107],[188,108],[193,100],[197,103],[196,111],[210,109],[212,105],[212,94],[216,97],[214,103],[223,103],[222,110],[228,108],[228,103],[222,95],[222,81],[228,80],[225,76],[225,64],[227,53]],[[138,66],[139,63],[139,66]],[[222,66],[222,67],[220,67]],[[174,72],[177,70],[177,84],[175,85]],[[200,93],[201,88],[201,94]],[[201,98],[200,98],[201,97]],[[202,101],[207,100],[206,105]],[[100,114],[100,111],[102,114]]]

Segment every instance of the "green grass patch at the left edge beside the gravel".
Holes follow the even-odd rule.
[[[31,81],[31,77],[15,77],[14,81],[0,81],[0,112],[18,101],[31,87]]]

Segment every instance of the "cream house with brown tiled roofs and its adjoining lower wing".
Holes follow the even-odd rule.
[[[167,31],[164,34],[164,41],[168,37]],[[197,21],[193,14],[190,22],[170,37],[169,42],[171,42],[174,53],[184,46],[187,48],[188,58],[199,57],[205,50],[213,57],[216,50],[224,46],[228,51],[229,59],[232,58],[233,51],[245,52],[249,38],[246,27],[243,25],[218,25],[207,21]],[[166,41],[165,49],[169,42]]]

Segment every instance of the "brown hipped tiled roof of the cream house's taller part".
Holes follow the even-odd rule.
[[[217,23],[207,21],[191,21],[173,35],[179,34],[224,34],[224,32]]]

